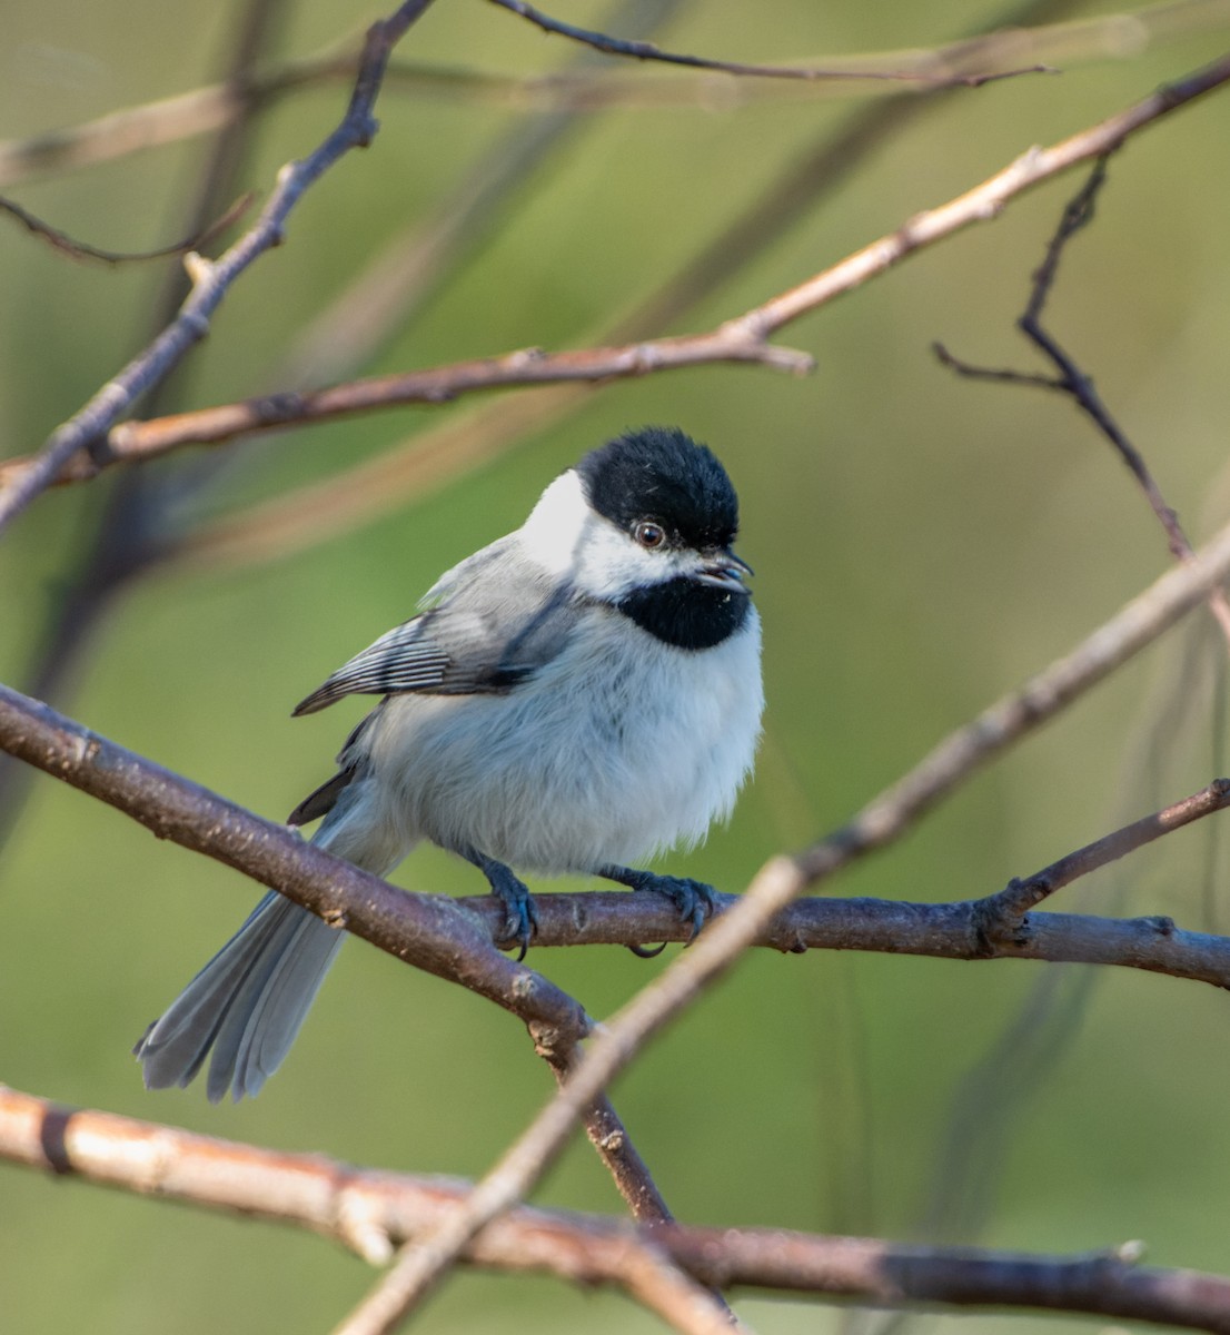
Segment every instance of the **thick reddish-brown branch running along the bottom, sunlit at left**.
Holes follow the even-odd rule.
[[[160,1199],[297,1224],[372,1264],[430,1230],[470,1183],[354,1168],[199,1136],[113,1113],[71,1109],[0,1087],[0,1159]],[[642,1231],[602,1215],[520,1207],[486,1228],[463,1260],[568,1283],[635,1287],[648,1246],[698,1283],[902,1307],[943,1303],[1085,1312],[1230,1332],[1230,1280],[1138,1266],[1131,1244],[1083,1256],[906,1247],[775,1228]]]

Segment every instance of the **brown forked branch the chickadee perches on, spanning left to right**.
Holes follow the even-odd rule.
[[[587,1023],[575,1001],[539,975],[522,971],[494,952],[502,910],[490,896],[458,901],[390,886],[331,858],[284,826],[263,821],[3,686],[0,748],[109,802],[159,837],[225,862],[398,959],[495,1000],[531,1025],[542,1055],[564,1077],[575,1056],[575,1040],[587,1032]],[[1027,929],[1021,926],[1021,914],[1039,902],[1039,889],[1053,893],[1077,874],[1087,874],[1111,857],[1122,857],[1150,838],[1222,809],[1226,802],[1226,788],[1218,781],[1205,793],[983,900],[950,904],[831,896],[796,900],[764,922],[751,944],[783,952],[872,951],[951,960],[1113,964],[1230,987],[1230,939],[1183,932],[1169,918],[1115,920],[1033,912]],[[334,876],[335,866],[344,870]],[[371,888],[376,886],[372,898]],[[535,944],[540,947],[627,945],[687,937],[675,910],[654,896],[590,890],[538,894],[536,902],[540,922]],[[738,902],[736,896],[718,896],[719,916]],[[463,961],[462,956],[474,949],[478,956]],[[495,977],[487,973],[492,955],[499,961],[494,965]],[[526,977],[532,981],[520,981]],[[595,1145],[604,1145],[618,1160],[608,1161],[608,1167],[636,1216],[670,1218],[638,1167],[635,1148],[614,1111],[599,1104],[588,1129]]]

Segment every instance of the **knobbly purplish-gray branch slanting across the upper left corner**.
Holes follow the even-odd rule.
[[[388,19],[372,24],[363,64],[342,123],[308,158],[281,168],[277,187],[260,218],[220,259],[208,262],[195,252],[187,256],[192,291],[179,315],[144,352],[104,384],[85,407],[53,431],[43,451],[11,486],[0,491],[0,530],[59,475],[68,459],[80,450],[89,450],[100,443],[133,402],[204,338],[213,311],[221,304],[235,279],[283,240],[287,218],[304,191],[350,150],[371,142],[376,132],[372,107],[390,51],[430,4],[431,0],[404,0]]]

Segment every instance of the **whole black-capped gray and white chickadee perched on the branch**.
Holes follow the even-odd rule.
[[[522,953],[536,910],[512,866],[666,894],[698,930],[710,886],[630,864],[699,842],[751,770],[760,622],[738,522],[726,470],[683,431],[587,454],[295,709],[384,697],[289,822],[323,816],[314,842],[378,876],[423,838],[460,854]],[[257,1093],[344,934],[267,894],[137,1044],[145,1085],[187,1085],[212,1048],[211,1103]]]

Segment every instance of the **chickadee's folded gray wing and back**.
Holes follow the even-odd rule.
[[[512,690],[560,653],[583,607],[508,538],[450,570],[424,602],[426,611],[339,668],[295,714],[343,696]]]

